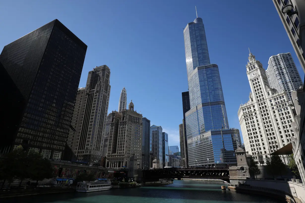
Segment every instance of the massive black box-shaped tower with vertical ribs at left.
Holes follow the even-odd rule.
[[[63,158],[86,51],[57,19],[3,48],[0,153],[23,145]]]

